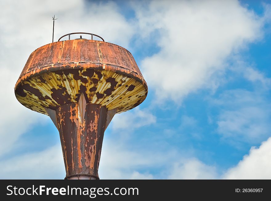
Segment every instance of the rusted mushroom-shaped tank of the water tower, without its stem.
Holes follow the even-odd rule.
[[[35,50],[15,86],[19,102],[47,114],[78,102],[101,104],[117,113],[139,105],[148,88],[131,53],[103,41],[70,40],[51,43]]]

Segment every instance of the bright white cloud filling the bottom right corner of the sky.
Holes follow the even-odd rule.
[[[271,179],[271,137],[259,148],[252,147],[235,167],[230,168],[224,179]]]

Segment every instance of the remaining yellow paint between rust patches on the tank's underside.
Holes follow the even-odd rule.
[[[37,96],[34,94],[30,95],[27,91],[24,90],[26,93],[26,97],[19,96],[15,93],[17,99],[19,102],[22,103],[22,105],[30,108],[31,110],[37,111],[39,113],[47,114],[44,110],[43,106],[48,107],[49,105],[52,106],[59,106],[55,100],[52,99],[51,94],[52,88],[60,89],[59,86],[65,87],[66,93],[68,93],[71,96],[70,102],[77,102],[75,99],[77,98],[76,94],[79,94],[80,85],[84,85],[87,88],[87,96],[89,99],[89,102],[101,104],[102,106],[106,106],[108,110],[119,108],[116,113],[121,113],[127,110],[132,109],[135,107],[135,104],[139,104],[144,101],[146,98],[147,90],[144,87],[144,85],[127,75],[113,72],[113,71],[107,71],[107,70],[95,70],[102,73],[102,78],[99,79],[98,75],[94,73],[92,78],[89,78],[87,76],[82,75],[82,73],[86,71],[86,69],[83,69],[82,72],[80,72],[79,75],[81,75],[84,78],[87,78],[88,82],[83,83],[81,80],[75,80],[73,78],[73,74],[68,75],[58,75],[54,72],[46,72],[43,74],[40,74],[38,76],[31,77],[30,79],[27,79],[23,82],[23,84],[30,84],[31,87],[34,87],[38,89],[43,96],[47,95],[50,97],[50,99],[45,99],[45,101],[42,101],[38,99]],[[46,80],[45,83],[42,83],[39,79],[39,76],[42,77],[42,79]],[[111,87],[111,83],[106,82],[108,78],[115,78],[115,81],[117,82],[115,90],[112,91],[111,95],[106,96],[104,94],[104,91]],[[98,79],[99,82],[97,84],[94,84],[92,82],[93,79]],[[121,84],[122,86],[119,86]],[[127,87],[126,87],[127,85]],[[134,85],[135,88],[132,91],[128,91],[128,87],[130,85]],[[89,89],[92,87],[96,87],[97,90],[95,92],[90,92]],[[103,98],[98,99],[96,93],[99,92],[101,94],[104,94]],[[64,94],[63,94],[64,95]],[[130,97],[131,96],[131,97]]]

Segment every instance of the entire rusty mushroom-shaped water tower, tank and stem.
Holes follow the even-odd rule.
[[[128,50],[92,33],[79,33],[91,40],[72,34],[30,54],[15,95],[59,130],[65,179],[99,179],[105,129],[115,114],[143,102],[148,87]]]

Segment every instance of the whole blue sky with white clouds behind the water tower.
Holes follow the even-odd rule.
[[[148,83],[105,132],[101,179],[271,179],[270,1],[0,2],[0,178],[65,177],[57,129],[13,89],[55,14],[55,41],[96,33]]]

